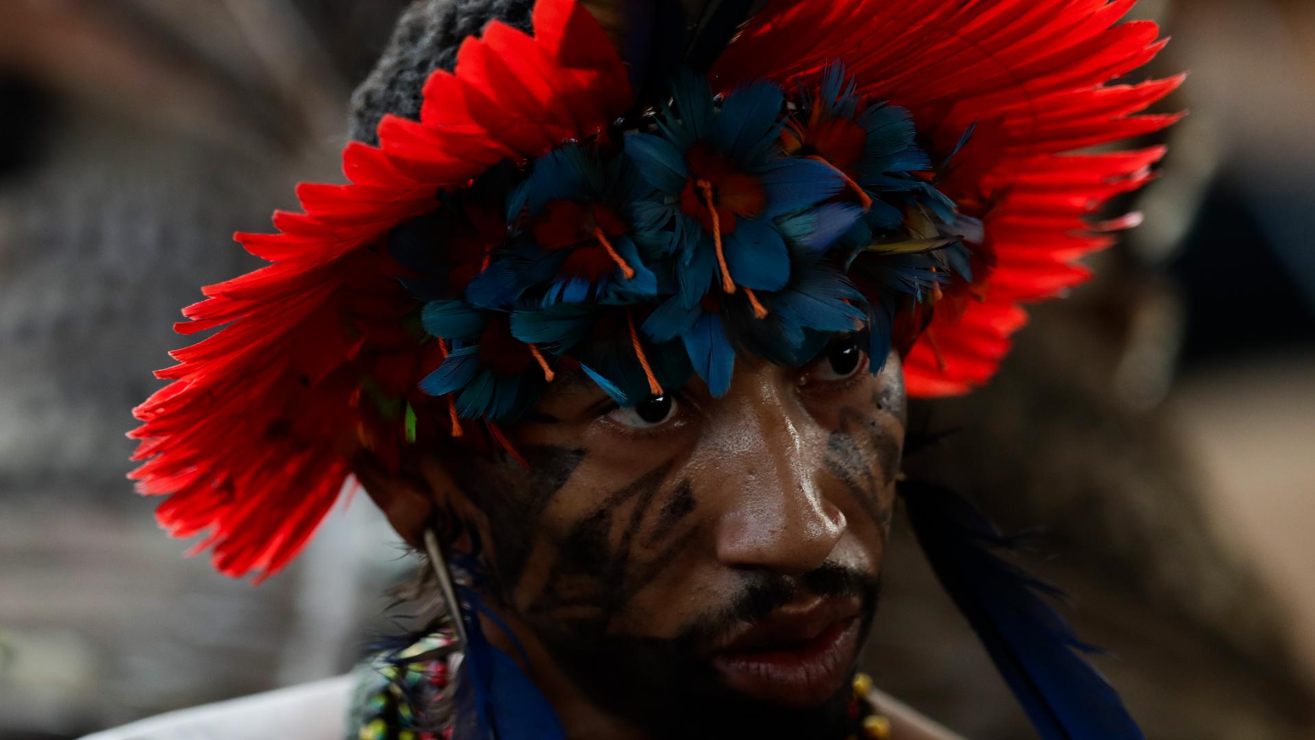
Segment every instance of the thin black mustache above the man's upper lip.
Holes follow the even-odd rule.
[[[753,624],[767,619],[801,594],[823,599],[857,599],[864,614],[871,616],[881,594],[880,578],[834,561],[826,561],[802,575],[748,570],[740,577],[742,590],[730,604],[698,619],[680,641],[707,644],[730,633],[740,623]]]

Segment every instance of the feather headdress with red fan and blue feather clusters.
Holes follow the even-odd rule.
[[[1152,176],[1181,78],[1134,0],[635,3],[618,50],[575,0],[490,22],[418,120],[302,184],[268,266],[204,288],[142,403],[132,474],[216,566],[264,578],[350,460],[505,444],[560,367],[619,403],[738,353],[805,362],[835,332],[903,354],[910,395],[984,383],[1023,304],[1088,278],[1090,221]],[[625,57],[623,57],[625,55]],[[874,363],[880,365],[880,363]]]

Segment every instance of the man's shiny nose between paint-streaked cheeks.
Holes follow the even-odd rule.
[[[818,483],[826,432],[790,388],[753,383],[752,391],[735,404],[721,432],[727,438],[717,445],[726,495],[717,557],[732,568],[801,575],[827,560],[846,529],[844,514]]]

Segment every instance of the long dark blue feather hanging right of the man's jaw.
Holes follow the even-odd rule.
[[[1041,595],[1056,590],[990,552],[1007,546],[968,499],[934,485],[901,486],[914,532],[936,577],[990,653],[1044,740],[1140,739],[1114,687],[1078,652]]]

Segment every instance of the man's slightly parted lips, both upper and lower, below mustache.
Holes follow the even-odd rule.
[[[775,704],[815,707],[846,679],[859,648],[856,602],[785,607],[711,652],[727,686]]]

